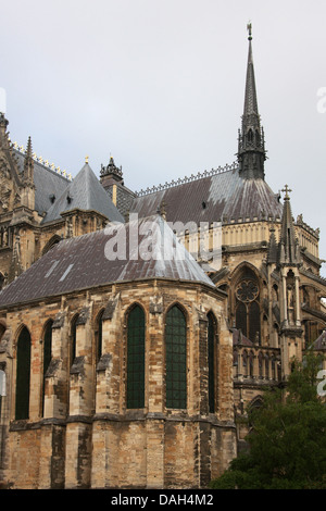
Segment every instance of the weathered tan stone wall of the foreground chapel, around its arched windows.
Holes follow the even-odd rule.
[[[126,408],[128,310],[146,316],[142,409]],[[187,321],[187,408],[165,406],[165,315],[179,304]],[[104,310],[102,354],[96,360],[97,317]],[[216,319],[215,411],[208,403],[206,315]],[[79,313],[70,361],[72,320]],[[43,331],[51,319],[52,358],[45,388]],[[201,284],[148,281],[106,286],[8,310],[5,460],[2,487],[198,488],[236,456],[233,340],[225,297]],[[29,417],[15,420],[16,344],[30,333]]]

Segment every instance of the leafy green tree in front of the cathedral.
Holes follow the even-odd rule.
[[[294,363],[285,389],[268,390],[248,410],[248,452],[211,488],[326,489],[326,406],[317,395],[321,359]]]

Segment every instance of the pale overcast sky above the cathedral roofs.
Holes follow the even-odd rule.
[[[30,135],[73,176],[86,155],[99,176],[111,154],[133,190],[236,160],[250,20],[266,180],[290,186],[326,259],[325,0],[0,0],[0,12],[11,139]]]

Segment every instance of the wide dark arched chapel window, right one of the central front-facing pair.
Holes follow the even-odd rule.
[[[178,306],[166,314],[166,408],[187,408],[187,322]]]

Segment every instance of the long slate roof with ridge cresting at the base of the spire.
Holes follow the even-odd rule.
[[[225,219],[224,223],[229,223],[231,219],[281,219],[283,213],[283,205],[267,183],[242,178],[237,167],[139,195],[131,211],[140,217],[154,214],[163,201],[168,222],[199,224]]]

